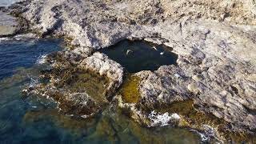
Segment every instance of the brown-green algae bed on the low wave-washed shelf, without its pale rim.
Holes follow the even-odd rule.
[[[62,59],[66,60],[58,54],[54,56],[59,62],[64,62]],[[52,70],[43,71],[42,78],[48,79],[49,82],[39,84],[35,89],[40,91],[40,94],[54,98],[64,114],[98,113],[108,103],[106,94],[109,79],[90,70],[66,66],[64,69],[57,66]]]

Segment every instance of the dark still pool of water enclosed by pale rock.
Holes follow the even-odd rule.
[[[143,41],[125,40],[100,51],[130,73],[158,70],[163,65],[176,65],[178,59],[178,55],[172,53],[170,48]]]

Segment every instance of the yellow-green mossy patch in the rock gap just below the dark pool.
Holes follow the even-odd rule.
[[[137,103],[140,100],[140,94],[138,90],[138,85],[140,78],[134,75],[128,75],[123,82],[119,94],[122,95],[122,99],[126,103]]]

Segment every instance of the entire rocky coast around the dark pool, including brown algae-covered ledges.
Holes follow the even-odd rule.
[[[214,127],[214,137],[222,140],[223,132],[255,134],[256,4],[252,0],[30,0],[10,6],[10,14],[22,19],[19,23],[26,22],[22,32],[66,38],[69,43],[69,49],[47,56],[52,69],[42,72],[42,79],[49,82],[25,90],[54,98],[66,114],[87,118],[117,103],[147,126],[152,124],[150,114],[157,111],[179,114],[178,122],[169,119],[177,126],[204,131],[210,130],[208,125]],[[122,85],[125,67],[98,50],[125,39],[168,46],[178,55],[177,66],[131,74],[136,78]],[[94,89],[81,90],[86,86]],[[128,96],[138,100],[125,98],[126,88],[134,90]],[[191,110],[175,111],[173,105],[179,102],[189,102],[196,116],[214,118],[196,123],[197,118],[187,118]]]

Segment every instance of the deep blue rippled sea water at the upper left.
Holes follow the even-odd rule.
[[[18,67],[33,66],[42,55],[61,50],[61,39],[7,40],[0,42],[0,80]]]

